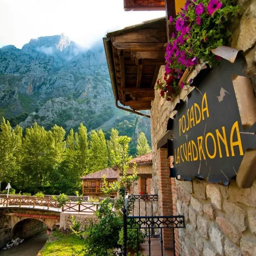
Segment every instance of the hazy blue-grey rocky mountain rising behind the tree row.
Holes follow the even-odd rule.
[[[83,122],[134,139],[143,130],[150,140],[149,119],[114,107],[103,46],[85,50],[64,34],[0,48],[0,115],[23,128],[56,123],[69,131]]]

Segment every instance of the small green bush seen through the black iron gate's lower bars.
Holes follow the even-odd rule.
[[[118,244],[122,245],[123,243],[123,228],[119,232]],[[143,233],[139,229],[139,244],[145,242]],[[137,229],[127,229],[127,248],[136,250],[137,249]]]

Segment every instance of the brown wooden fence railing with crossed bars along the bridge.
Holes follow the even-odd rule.
[[[68,202],[62,207],[59,205],[58,201],[54,201],[50,198],[34,198],[34,197],[17,197],[17,198],[0,198],[0,207],[9,206],[44,206],[49,208],[61,209],[62,212],[84,212],[93,214],[98,209],[98,204],[91,202]]]

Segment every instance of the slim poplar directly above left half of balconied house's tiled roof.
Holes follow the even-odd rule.
[[[90,173],[100,171],[108,166],[108,149],[102,130],[90,134]]]

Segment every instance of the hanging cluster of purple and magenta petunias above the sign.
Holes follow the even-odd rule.
[[[179,81],[187,67],[204,61],[212,66],[220,61],[211,49],[227,43],[230,18],[238,12],[234,5],[234,0],[186,0],[180,14],[175,19],[170,17],[175,31],[166,45],[163,81],[157,81],[163,98],[169,101],[183,88]]]

